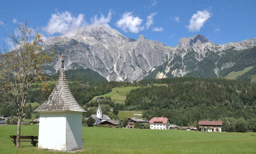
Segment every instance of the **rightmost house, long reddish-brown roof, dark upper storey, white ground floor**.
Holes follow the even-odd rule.
[[[208,132],[221,132],[222,131],[222,121],[199,121],[199,128],[201,131]]]

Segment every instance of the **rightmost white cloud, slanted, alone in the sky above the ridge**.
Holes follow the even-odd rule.
[[[189,20],[190,24],[189,26],[186,26],[186,28],[189,29],[189,32],[199,32],[209,17],[211,17],[211,13],[209,11],[198,11],[196,14],[192,15]]]

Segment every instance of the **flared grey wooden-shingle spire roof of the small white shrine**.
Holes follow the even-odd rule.
[[[53,89],[51,95],[39,108],[35,111],[77,111],[86,112],[81,106],[76,102],[67,84],[67,80],[64,73],[64,59],[63,54],[61,72],[58,78],[58,83]]]

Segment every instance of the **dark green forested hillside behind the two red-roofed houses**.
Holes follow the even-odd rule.
[[[256,84],[224,78],[165,78],[141,83],[168,83],[167,86],[131,90],[126,106],[145,110],[143,117],[166,116],[176,125],[199,120],[233,117],[256,118]]]

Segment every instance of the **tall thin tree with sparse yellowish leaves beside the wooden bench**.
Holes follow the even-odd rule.
[[[8,51],[4,41],[0,55],[0,99],[17,111],[16,148],[19,148],[21,121],[31,84],[41,84],[42,93],[48,90],[48,84],[43,80],[42,66],[51,61],[51,56],[42,49],[42,35],[29,28],[27,20],[26,23],[17,24],[17,30],[12,35],[6,35],[6,38],[13,41],[15,49]]]

